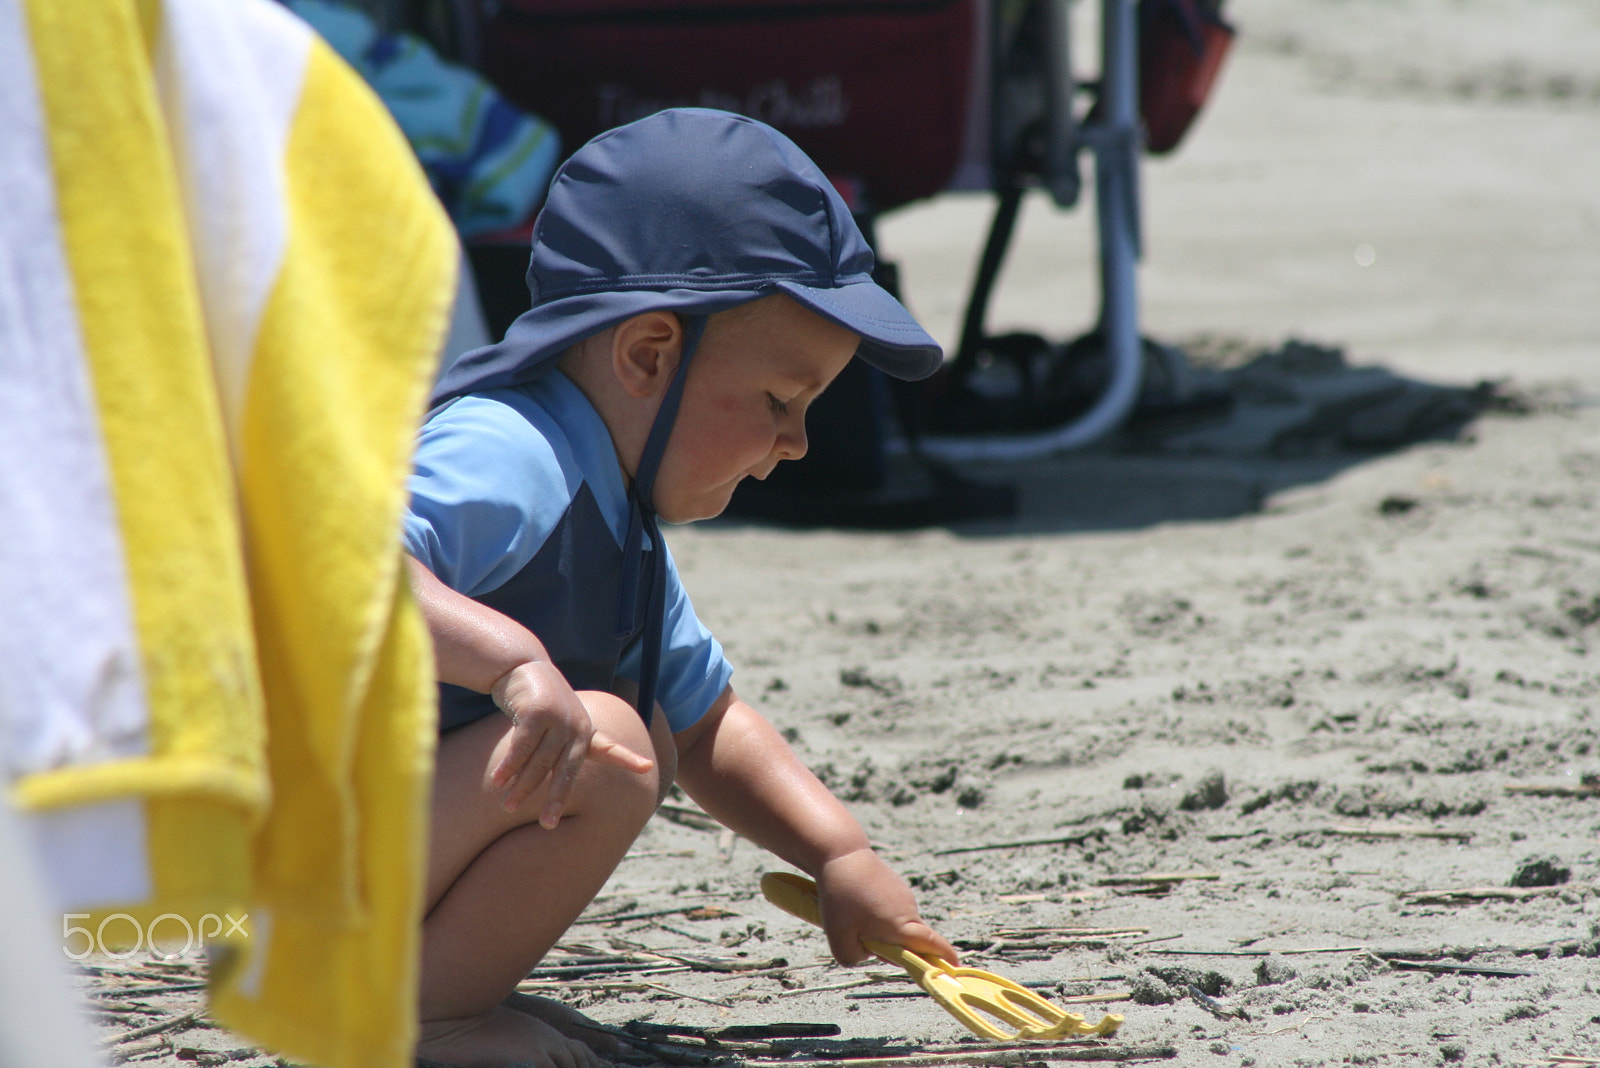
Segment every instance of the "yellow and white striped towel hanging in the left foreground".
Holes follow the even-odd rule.
[[[0,0],[0,783],[74,926],[248,915],[221,1022],[408,1063],[450,222],[267,0]]]

